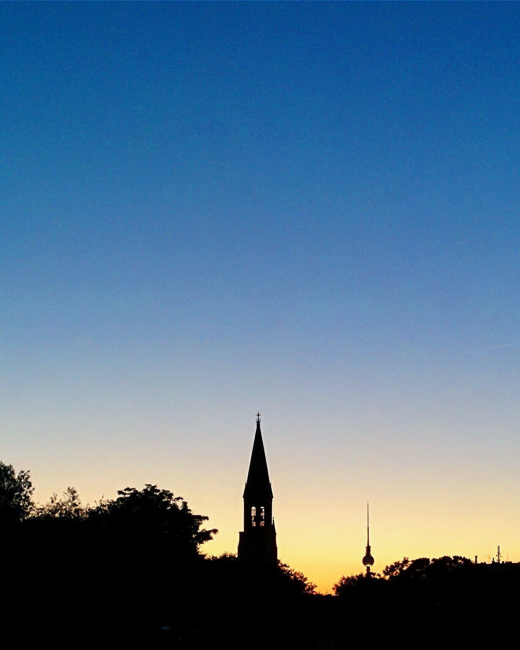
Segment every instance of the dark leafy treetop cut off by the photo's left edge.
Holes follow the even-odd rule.
[[[27,519],[34,508],[31,476],[21,469],[0,461],[0,521],[13,525]]]

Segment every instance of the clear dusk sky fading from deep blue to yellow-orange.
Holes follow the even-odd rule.
[[[1,3],[1,454],[236,552],[520,561],[518,3]],[[36,551],[37,552],[37,551]]]

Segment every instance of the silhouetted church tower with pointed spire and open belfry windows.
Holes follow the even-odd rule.
[[[272,517],[272,489],[269,481],[260,413],[244,488],[244,530],[239,533],[239,559],[252,562],[278,562],[276,530]]]

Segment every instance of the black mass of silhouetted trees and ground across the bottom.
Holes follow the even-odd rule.
[[[385,643],[396,621],[406,621],[409,638],[440,645],[473,632],[481,640],[486,621],[494,639],[519,620],[520,565],[405,557],[382,576],[341,577],[336,597],[320,595],[287,564],[203,556],[217,531],[155,485],[125,487],[94,506],[68,487],[34,508],[29,472],[0,463],[0,488],[1,523],[15,522],[4,536],[5,647],[70,647],[71,639],[80,647],[78,612],[85,647],[135,649],[206,650],[217,638],[253,650],[346,647],[367,629],[371,642]],[[253,631],[252,619],[260,621]],[[265,642],[267,624],[276,636]]]

